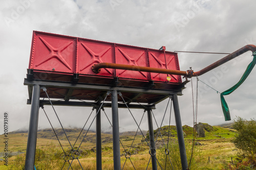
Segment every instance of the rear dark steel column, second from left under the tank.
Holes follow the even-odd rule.
[[[96,114],[96,169],[101,170],[101,113],[99,107],[96,108]]]

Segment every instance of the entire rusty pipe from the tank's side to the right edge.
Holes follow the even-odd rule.
[[[144,72],[156,72],[162,74],[170,74],[170,75],[180,75],[186,76],[190,78],[191,76],[201,76],[206,72],[244,54],[245,52],[251,51],[254,53],[256,51],[255,45],[245,45],[244,47],[240,48],[239,50],[227,55],[226,57],[212,63],[211,65],[201,69],[200,71],[180,71],[180,70],[172,70],[172,69],[163,69],[163,68],[152,68],[152,67],[144,67],[144,66],[135,66],[135,65],[125,65],[125,64],[115,64],[115,63],[99,63],[92,66],[93,72],[100,72],[101,68],[113,68],[113,69],[124,69],[124,70],[133,70],[133,71],[144,71]]]

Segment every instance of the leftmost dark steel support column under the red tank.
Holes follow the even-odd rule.
[[[32,93],[28,143],[27,143],[27,152],[26,152],[26,160],[25,160],[25,169],[26,170],[33,170],[34,164],[35,164],[35,150],[36,150],[38,114],[39,114],[39,99],[40,99],[40,86],[34,85],[33,93]]]

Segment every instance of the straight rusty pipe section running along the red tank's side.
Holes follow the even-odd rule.
[[[180,75],[180,76],[187,75],[187,71],[143,67],[143,66],[136,66],[136,65],[115,64],[115,63],[99,63],[92,66],[93,72],[96,72],[96,73],[100,72],[100,68],[114,68],[114,69],[125,69],[125,70],[133,70],[133,71],[157,72],[162,74]]]

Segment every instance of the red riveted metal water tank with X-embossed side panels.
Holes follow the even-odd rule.
[[[29,69],[39,79],[71,81],[77,74],[79,82],[109,84],[118,77],[120,85],[144,86],[146,82],[154,81],[155,88],[170,84],[167,89],[182,83],[181,76],[177,75],[112,68],[102,68],[98,74],[92,71],[92,65],[103,62],[180,70],[177,53],[165,49],[33,32]]]

